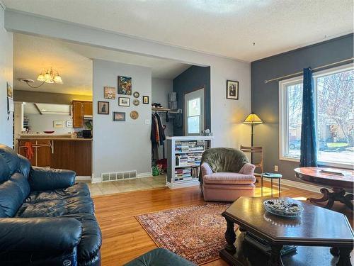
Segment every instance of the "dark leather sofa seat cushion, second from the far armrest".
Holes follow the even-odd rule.
[[[18,217],[55,217],[67,214],[93,214],[90,196],[73,196],[67,199],[25,203],[18,210]]]

